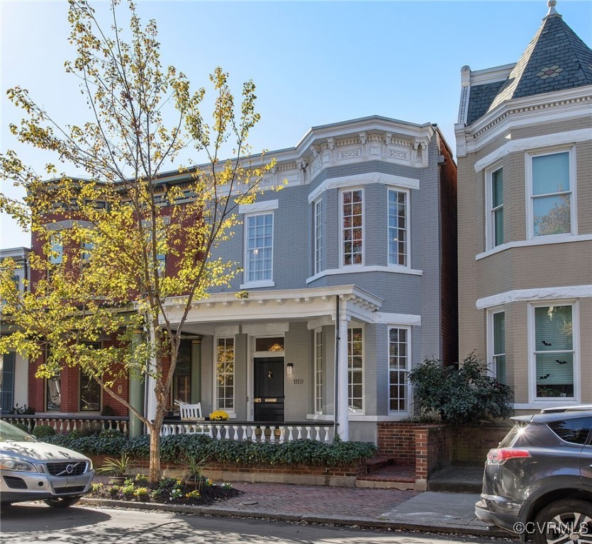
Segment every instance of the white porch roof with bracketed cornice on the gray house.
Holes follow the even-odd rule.
[[[183,329],[208,334],[207,329],[195,325],[286,320],[308,321],[309,328],[312,328],[335,321],[337,300],[340,317],[370,323],[374,321],[374,314],[384,302],[357,285],[257,290],[247,293],[246,298],[238,298],[237,293],[216,293],[193,302]],[[180,321],[183,302],[183,297],[167,302],[172,323]]]

